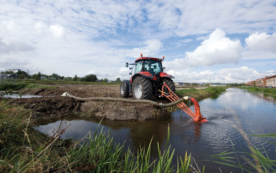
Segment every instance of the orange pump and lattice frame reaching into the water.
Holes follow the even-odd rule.
[[[164,92],[164,87],[167,88],[166,89],[166,90],[168,90],[167,93]],[[162,92],[162,95],[160,97],[165,96],[172,102],[179,99],[179,97],[177,97],[177,95],[173,91],[170,90],[169,86],[165,82],[164,82],[164,85],[162,86],[162,91],[160,91],[160,92]],[[193,104],[195,105],[195,107],[194,107],[195,113],[193,113],[184,102],[177,104],[177,106],[181,110],[186,112],[189,116],[191,116],[193,118],[193,121],[196,121],[198,123],[208,122],[208,120],[204,116],[201,115],[200,106],[199,106],[198,102],[196,101],[196,99],[191,96],[186,96],[184,98],[185,98],[185,100],[190,100],[193,102]]]

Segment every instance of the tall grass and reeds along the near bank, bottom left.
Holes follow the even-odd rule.
[[[175,150],[169,141],[151,157],[147,147],[128,148],[114,142],[110,133],[98,129],[80,141],[60,140],[65,129],[57,129],[51,137],[33,129],[31,110],[0,102],[0,172],[191,172],[191,154],[172,162]],[[204,172],[204,170],[203,170]]]

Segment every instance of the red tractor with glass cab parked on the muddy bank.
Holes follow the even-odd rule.
[[[141,54],[141,57],[137,58],[135,63],[126,63],[126,67],[134,66],[129,68],[132,69],[132,72],[129,73],[131,75],[130,80],[123,80],[121,83],[121,97],[129,97],[129,93],[132,93],[133,99],[137,100],[148,100],[152,95],[160,98],[164,82],[171,91],[175,92],[175,84],[172,80],[175,77],[163,72],[165,67],[162,67],[162,61],[164,61],[164,56],[163,59],[160,59],[143,57],[143,54]],[[164,92],[168,92],[168,89],[165,89]]]

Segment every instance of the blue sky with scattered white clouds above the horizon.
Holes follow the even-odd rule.
[[[0,70],[129,79],[165,56],[175,82],[276,74],[276,0],[1,0]]]

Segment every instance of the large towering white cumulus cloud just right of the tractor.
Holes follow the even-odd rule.
[[[215,64],[237,63],[241,59],[243,47],[239,40],[233,41],[225,37],[221,29],[213,31],[193,52],[186,52],[183,59],[175,59],[168,63],[172,69],[185,69]]]

